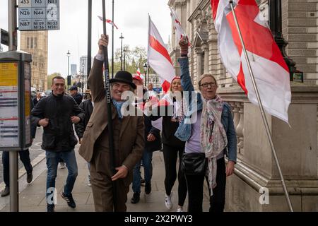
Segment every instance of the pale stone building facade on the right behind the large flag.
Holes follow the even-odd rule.
[[[282,0],[286,53],[304,73],[291,82],[289,124],[266,115],[288,194],[296,211],[318,211],[318,16],[317,0]],[[257,0],[269,20],[267,0]],[[191,42],[189,69],[194,87],[204,72],[216,75],[218,94],[232,106],[237,133],[235,174],[227,179],[228,211],[288,211],[277,165],[259,108],[226,73],[218,54],[210,0],[170,0]],[[170,56],[179,74],[179,47],[172,27]],[[208,195],[208,194],[207,194]]]

